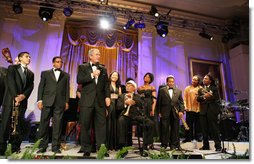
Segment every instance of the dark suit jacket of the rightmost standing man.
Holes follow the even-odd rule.
[[[200,102],[200,115],[205,115],[207,112],[211,112],[215,115],[220,113],[220,96],[218,88],[214,85],[210,85],[206,90],[212,93],[211,97],[204,99],[204,88],[198,90],[197,101]]]

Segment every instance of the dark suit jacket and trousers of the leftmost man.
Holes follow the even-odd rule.
[[[27,100],[34,88],[34,74],[29,69],[26,74],[26,83],[22,81],[23,70],[21,65],[10,65],[7,70],[6,76],[6,89],[4,92],[3,100],[3,110],[2,110],[2,124],[0,133],[0,150],[4,151],[6,149],[6,141],[9,138],[9,129],[11,125],[11,112],[13,109],[14,98],[17,95],[24,94],[25,99],[20,102],[19,106],[19,124],[18,133],[15,136],[15,140],[10,138],[9,142],[12,143],[12,150],[18,151],[20,149],[20,144],[22,142],[22,128],[21,125],[24,122],[24,116],[27,109]]]

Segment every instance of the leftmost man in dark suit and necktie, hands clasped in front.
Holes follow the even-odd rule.
[[[22,142],[22,133],[24,128],[24,116],[27,109],[27,100],[34,87],[34,74],[27,66],[30,64],[30,55],[28,52],[21,52],[18,55],[20,64],[10,65],[7,70],[7,83],[4,93],[2,124],[0,133],[0,155],[3,155],[9,139],[12,144],[12,152],[19,152]],[[18,108],[18,119],[12,118],[14,105]],[[16,109],[17,109],[16,108]],[[16,126],[14,122],[17,122]],[[24,124],[23,124],[24,125]],[[17,133],[13,133],[16,128]],[[23,129],[22,129],[23,128]],[[11,134],[10,130],[11,129]]]

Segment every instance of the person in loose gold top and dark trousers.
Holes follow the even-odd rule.
[[[198,90],[200,86],[200,78],[195,75],[192,77],[191,85],[184,89],[184,106],[186,111],[186,123],[189,125],[189,130],[185,132],[186,138],[183,142],[191,142],[191,140],[196,139],[201,142],[201,128],[199,121],[199,102],[197,101]]]

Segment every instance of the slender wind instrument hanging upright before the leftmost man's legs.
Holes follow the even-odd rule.
[[[19,105],[15,105],[15,101],[13,101],[13,109],[12,109],[12,115],[11,115],[11,128],[12,132],[11,135],[17,135],[17,126],[19,121]]]

